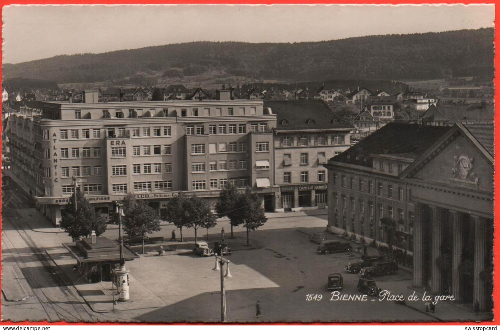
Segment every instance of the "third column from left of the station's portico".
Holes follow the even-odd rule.
[[[464,214],[455,210],[449,210],[453,221],[453,239],[452,239],[452,266],[451,266],[451,294],[457,302],[461,301],[461,279],[458,270],[463,248],[463,221]]]

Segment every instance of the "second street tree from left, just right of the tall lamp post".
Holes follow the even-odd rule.
[[[125,216],[121,219],[123,231],[132,238],[142,238],[142,254],[144,253],[144,236],[146,233],[159,231],[159,219],[145,200],[135,199],[133,194],[127,194],[121,201]],[[115,218],[117,222],[117,218]]]

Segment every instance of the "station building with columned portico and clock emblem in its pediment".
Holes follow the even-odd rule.
[[[326,167],[329,230],[405,249],[414,286],[491,308],[492,122],[388,123]]]

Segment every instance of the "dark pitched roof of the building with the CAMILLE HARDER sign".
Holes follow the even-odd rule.
[[[278,130],[354,128],[321,99],[264,100],[264,108],[267,107],[277,116]],[[283,119],[288,124],[280,124]]]

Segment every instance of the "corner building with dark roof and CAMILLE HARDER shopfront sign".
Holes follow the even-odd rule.
[[[276,211],[326,207],[326,160],[349,147],[352,125],[320,99],[264,101],[277,116],[274,130]]]

